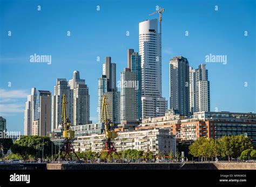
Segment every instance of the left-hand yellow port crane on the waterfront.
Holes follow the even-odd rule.
[[[72,160],[72,155],[70,155],[70,153],[72,152],[79,160],[79,157],[75,153],[75,149],[73,148],[71,143],[72,139],[75,138],[75,132],[72,131],[70,128],[72,124],[69,120],[67,104],[68,102],[66,102],[66,96],[65,94],[63,94],[62,96],[62,127],[64,128],[64,131],[63,131],[64,142],[59,154],[62,155],[62,153],[64,152],[65,154],[64,156],[62,155],[62,159],[66,160],[66,156],[69,156],[69,159]]]

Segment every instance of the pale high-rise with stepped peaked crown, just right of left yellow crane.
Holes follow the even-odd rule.
[[[73,79],[68,83],[71,89],[71,119],[72,125],[89,124],[90,95],[84,79],[80,79],[79,71],[73,72]]]

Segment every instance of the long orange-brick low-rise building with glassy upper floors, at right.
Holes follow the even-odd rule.
[[[148,118],[137,130],[163,128],[176,135],[177,143],[190,145],[194,140],[244,134],[256,145],[256,114],[238,112],[196,112],[192,118],[166,112],[165,116]]]

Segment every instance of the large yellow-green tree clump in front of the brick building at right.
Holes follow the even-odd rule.
[[[238,158],[246,149],[252,149],[252,141],[244,135],[222,136],[219,139],[199,138],[189,147],[189,153],[205,160],[214,157]]]

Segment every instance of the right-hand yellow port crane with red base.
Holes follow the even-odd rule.
[[[117,149],[114,148],[113,142],[111,140],[117,138],[117,133],[114,132],[114,130],[113,130],[114,124],[111,122],[110,119],[107,118],[106,105],[107,105],[106,96],[104,95],[103,100],[102,100],[102,120],[104,122],[106,140],[105,140],[104,147],[103,147],[100,155],[103,152],[106,152],[107,156],[110,155],[112,157],[112,153],[117,153]]]

